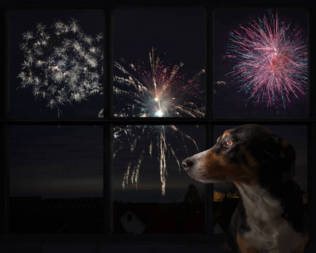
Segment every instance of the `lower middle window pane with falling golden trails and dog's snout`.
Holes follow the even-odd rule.
[[[181,162],[205,149],[203,126],[117,126],[115,233],[204,233],[204,184]]]

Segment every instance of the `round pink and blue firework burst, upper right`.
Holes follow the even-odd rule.
[[[247,27],[230,33],[227,55],[233,60],[228,73],[239,81],[255,105],[285,109],[293,98],[307,93],[307,38],[303,29],[269,11]]]

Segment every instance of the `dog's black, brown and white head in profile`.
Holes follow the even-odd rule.
[[[203,183],[258,184],[287,180],[294,172],[295,151],[289,142],[263,126],[247,124],[219,136],[215,145],[182,161],[188,175]]]

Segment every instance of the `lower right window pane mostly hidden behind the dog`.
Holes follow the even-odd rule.
[[[225,130],[235,126],[215,126],[214,138],[222,136]],[[295,175],[293,180],[299,184],[304,191],[302,194],[303,202],[307,203],[307,127],[295,125],[267,125],[276,136],[292,144],[296,153]],[[236,205],[239,201],[240,194],[233,183],[216,183],[214,184],[214,232],[226,232],[230,223]]]

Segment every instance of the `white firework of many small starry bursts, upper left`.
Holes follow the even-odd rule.
[[[51,27],[36,24],[36,32],[22,33],[24,62],[18,78],[31,87],[35,99],[47,100],[51,109],[81,102],[103,93],[103,35],[85,34],[78,22],[56,21]]]

